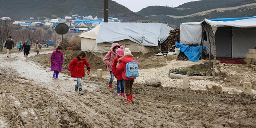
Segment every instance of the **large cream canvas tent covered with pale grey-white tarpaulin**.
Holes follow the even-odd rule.
[[[163,23],[101,23],[80,34],[81,49],[108,52],[116,42],[132,52],[159,52],[159,43],[165,41],[170,30],[173,29]]]

